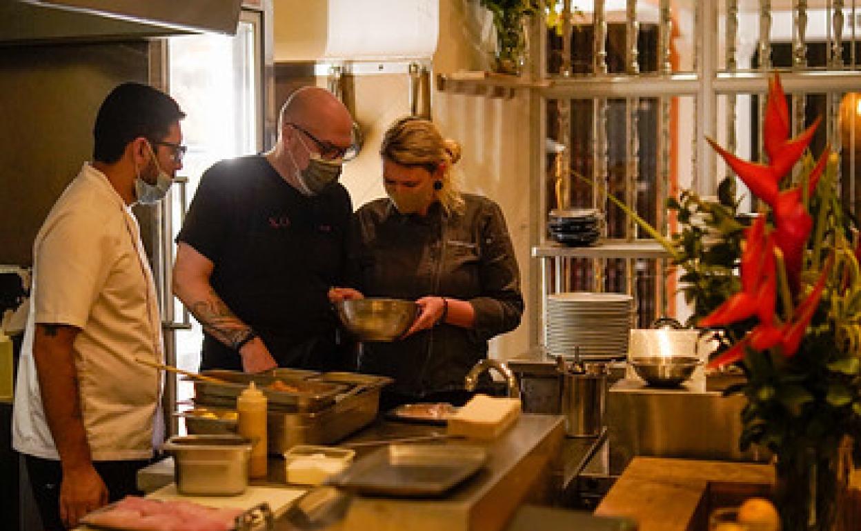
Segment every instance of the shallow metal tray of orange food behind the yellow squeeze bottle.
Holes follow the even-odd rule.
[[[270,411],[319,411],[333,404],[338,394],[349,390],[349,386],[338,383],[307,379],[289,380],[276,378],[273,374],[245,374],[222,369],[203,371],[201,374],[224,380],[226,383],[195,380],[195,401],[223,407],[236,407],[239,393],[243,392],[252,381],[266,395],[267,407]],[[294,387],[296,391],[269,389],[276,380]]]

